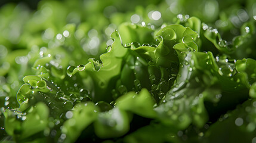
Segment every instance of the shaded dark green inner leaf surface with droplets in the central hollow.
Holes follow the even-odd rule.
[[[131,44],[132,45],[132,44]],[[165,94],[172,85],[178,73],[178,64],[172,63],[171,68],[149,66],[140,57],[131,58],[134,63],[127,63],[121,74],[121,79],[116,83],[116,88],[112,90],[114,99],[126,94],[128,91],[140,92],[142,88],[147,88],[156,102],[164,98]],[[125,74],[128,72],[128,74]],[[127,77],[129,76],[129,77]]]

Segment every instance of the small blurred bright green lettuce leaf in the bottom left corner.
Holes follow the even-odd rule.
[[[47,129],[49,109],[47,105],[39,102],[27,113],[5,110],[4,116],[5,131],[9,135],[14,136],[16,141],[29,140],[31,136]]]

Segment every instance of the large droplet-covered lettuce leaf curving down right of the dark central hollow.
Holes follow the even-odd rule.
[[[181,63],[177,82],[156,107],[159,120],[166,125],[186,129],[192,123],[201,128],[208,121],[208,114],[212,114],[205,102],[221,100],[217,108],[227,110],[248,98],[247,74],[238,73],[234,64],[217,62],[211,52],[191,52],[191,47],[180,44],[174,49]],[[231,99],[229,104],[222,105],[223,101]]]

